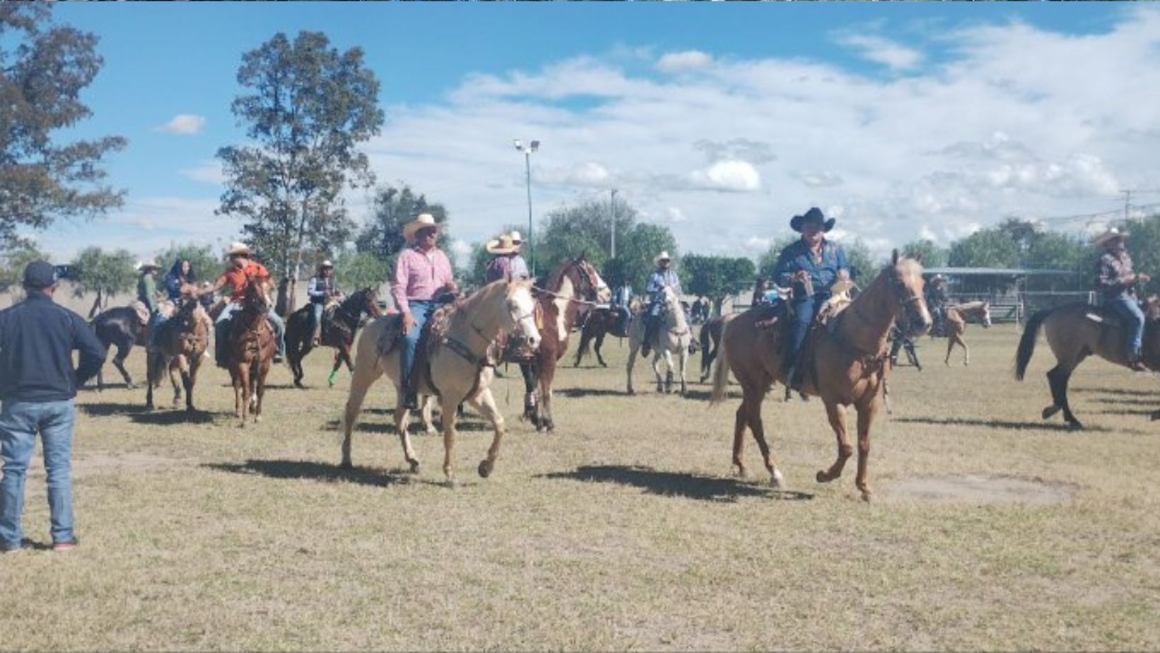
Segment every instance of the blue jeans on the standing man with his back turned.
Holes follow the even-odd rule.
[[[68,401],[5,401],[0,408],[0,547],[17,549],[23,531],[24,478],[36,449],[36,434],[44,443],[44,469],[49,481],[52,542],[75,542],[72,513],[72,435],[75,413]]]

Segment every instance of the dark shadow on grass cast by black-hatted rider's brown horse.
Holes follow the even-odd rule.
[[[813,494],[805,492],[777,491],[738,479],[706,477],[688,472],[665,472],[641,466],[583,465],[571,472],[552,472],[536,478],[615,483],[639,487],[647,494],[697,501],[734,502],[741,496],[792,501],[813,499]]]

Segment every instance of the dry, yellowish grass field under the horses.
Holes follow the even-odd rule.
[[[820,401],[766,404],[793,491],[775,494],[731,477],[737,399],[710,408],[698,384],[658,396],[640,367],[641,394],[625,397],[615,340],[611,368],[559,375],[554,435],[515,420],[516,370],[499,380],[512,430],[496,471],[476,476],[491,434],[469,418],[458,489],[440,485],[441,437],[418,436],[423,469],[403,472],[382,382],[356,469],[336,466],[348,379],[325,387],[325,354],[307,361],[311,390],[271,372],[266,421],[247,430],[216,369],[193,419],[143,412],[144,391],[85,392],[82,544],[0,558],[0,648],[1160,648],[1155,377],[1085,364],[1072,398],[1089,429],[1072,433],[1038,418],[1042,343],[1016,383],[1010,327],[966,338],[970,368],[925,340],[927,368],[896,371],[871,505],[853,465],[813,480],[835,450]],[[140,353],[130,361],[139,373]],[[747,454],[762,470],[752,440]],[[1067,498],[898,491],[960,474]],[[26,530],[45,542],[43,472]]]

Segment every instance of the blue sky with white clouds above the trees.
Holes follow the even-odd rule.
[[[241,53],[280,30],[364,49],[387,110],[367,146],[379,181],[447,204],[459,252],[525,210],[514,137],[544,142],[537,217],[615,187],[684,251],[755,255],[810,204],[880,251],[1160,187],[1160,113],[1114,100],[1157,106],[1152,8],[75,2],[55,15],[97,34],[106,59],[75,131],[130,140],[109,165],[125,209],[43,234],[60,256],[237,235],[212,216],[213,153],[242,138],[229,109]],[[184,132],[162,129],[177,116]],[[364,199],[351,197],[356,217]]]

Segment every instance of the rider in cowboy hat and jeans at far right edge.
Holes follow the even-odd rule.
[[[1140,355],[1144,346],[1144,311],[1136,297],[1136,284],[1147,283],[1152,277],[1132,271],[1132,257],[1128,255],[1124,244],[1126,237],[1126,232],[1111,227],[1093,240],[1093,245],[1103,248],[1103,254],[1096,262],[1095,286],[1104,304],[1111,306],[1128,327],[1124,329],[1128,336],[1128,367],[1143,372],[1147,370]]]

